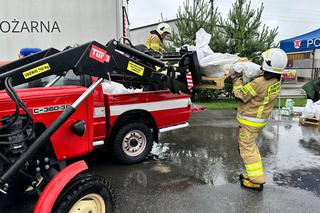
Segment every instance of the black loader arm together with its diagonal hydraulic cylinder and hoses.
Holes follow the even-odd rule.
[[[15,92],[13,86],[50,75],[64,75],[69,70],[73,70],[79,75],[87,74],[98,77],[97,81],[87,88],[72,105],[68,106],[14,162],[11,162],[0,153],[0,160],[8,164],[8,168],[0,176],[0,192],[7,193],[11,184],[10,180],[17,173],[29,177],[23,170],[25,163],[32,159],[39,149],[49,143],[49,138],[52,134],[70,118],[78,106],[95,90],[103,79],[109,79],[110,74],[122,72],[143,79],[143,82],[163,84],[173,93],[188,92],[186,85],[176,81],[174,76],[169,77],[155,71],[154,68],[156,66],[167,69],[169,73],[174,69],[149,55],[111,40],[107,45],[92,41],[64,51],[50,48],[0,67],[0,90],[5,89],[16,105],[16,111],[8,117],[0,118],[0,123],[3,125],[4,121],[6,121],[6,128],[11,127],[14,124],[14,119],[19,117],[19,108],[22,108],[28,119],[26,127],[30,126],[32,128],[30,135],[34,131],[32,115]],[[0,127],[3,128],[3,126]],[[14,143],[18,142],[20,143],[20,141],[14,141]]]

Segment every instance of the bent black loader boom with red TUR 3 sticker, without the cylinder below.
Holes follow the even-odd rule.
[[[116,40],[107,45],[92,41],[64,51],[47,49],[35,55],[19,59],[0,68],[0,90],[4,79],[12,78],[13,86],[49,75],[63,75],[73,70],[76,74],[87,74],[108,79],[112,73],[126,73],[146,82],[160,83],[173,93],[187,93],[184,84],[157,72],[154,67],[173,69],[161,61],[139,52]]]

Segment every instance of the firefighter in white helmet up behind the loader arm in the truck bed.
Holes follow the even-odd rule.
[[[163,40],[172,34],[172,29],[167,23],[160,23],[155,30],[150,32],[150,36],[147,39],[146,46],[148,49],[157,52],[164,52]]]

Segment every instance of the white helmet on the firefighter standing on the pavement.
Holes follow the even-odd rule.
[[[263,52],[262,58],[262,69],[276,74],[282,74],[288,63],[287,54],[279,48],[271,48]]]

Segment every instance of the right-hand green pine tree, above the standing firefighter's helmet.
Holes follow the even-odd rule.
[[[225,52],[253,57],[255,52],[275,46],[273,42],[278,34],[278,27],[269,29],[261,24],[263,3],[256,10],[251,9],[251,1],[247,3],[247,0],[236,0],[232,6],[228,17],[219,19],[225,38]]]

